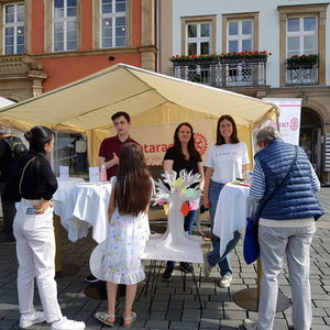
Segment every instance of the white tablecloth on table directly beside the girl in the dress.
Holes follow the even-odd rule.
[[[70,241],[86,238],[90,227],[95,241],[106,240],[111,187],[108,182],[86,183],[69,190],[62,224],[67,229]]]

